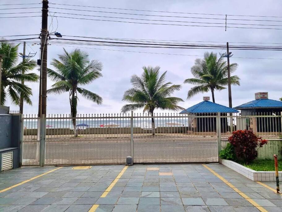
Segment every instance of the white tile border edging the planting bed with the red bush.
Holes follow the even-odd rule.
[[[244,175],[254,181],[275,181],[275,172],[255,171],[231,160],[221,159],[221,164]],[[282,181],[282,172],[278,172],[279,181]]]

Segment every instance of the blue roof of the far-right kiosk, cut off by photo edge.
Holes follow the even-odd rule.
[[[249,108],[282,108],[282,101],[273,99],[256,99],[254,101],[249,101],[245,104],[234,107],[234,109],[237,110]]]

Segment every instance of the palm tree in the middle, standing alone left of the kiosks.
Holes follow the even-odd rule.
[[[133,111],[143,108],[143,112],[148,111],[154,116],[154,109],[183,110],[177,106],[178,102],[183,101],[178,97],[171,97],[174,91],[178,91],[181,85],[171,85],[171,82],[165,83],[166,73],[159,76],[160,67],[143,66],[144,72],[141,77],[132,75],[131,83],[133,88],[124,92],[123,101],[132,104],[124,105],[122,112]],[[154,118],[152,117],[152,134],[155,134]]]

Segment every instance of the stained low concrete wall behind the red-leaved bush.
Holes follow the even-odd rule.
[[[228,141],[221,141],[221,149],[226,147]],[[268,140],[267,145],[263,145],[258,150],[258,159],[273,159],[276,154],[279,160],[282,160],[282,139]]]

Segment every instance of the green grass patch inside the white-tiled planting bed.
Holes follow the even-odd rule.
[[[238,162],[239,164],[249,168],[253,169],[255,171],[275,171],[274,166],[274,159],[264,159],[264,160],[253,160],[249,164],[245,164],[243,162]],[[282,161],[278,161],[278,171],[282,171]]]

